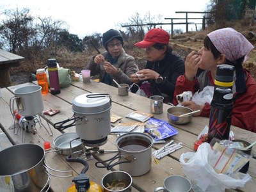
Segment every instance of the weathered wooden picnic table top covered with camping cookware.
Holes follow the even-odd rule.
[[[13,90],[19,86],[24,86],[29,83],[19,84],[17,86],[11,86],[8,88],[4,88],[2,90],[2,98],[0,98],[0,122],[4,127],[4,132],[10,136],[14,143],[20,143],[20,135],[13,134],[12,126],[13,126],[13,118],[9,111],[9,100],[10,97],[13,96]],[[35,82],[36,84],[36,82]],[[73,115],[71,104],[72,99],[77,97],[78,95],[84,93],[109,93],[111,94],[112,99],[112,108],[111,113],[114,113],[118,116],[122,116],[122,122],[131,122],[132,120],[125,118],[125,115],[131,113],[132,111],[141,111],[148,113],[150,111],[149,104],[150,100],[136,95],[134,93],[129,93],[128,96],[120,97],[117,95],[117,88],[113,86],[108,86],[103,83],[95,83],[91,81],[89,84],[84,84],[82,82],[72,83],[68,88],[61,89],[61,93],[58,95],[51,95],[48,93],[47,95],[43,95],[44,100],[44,109],[60,109],[60,113],[54,116],[45,116],[41,115],[43,119],[43,123],[46,125],[46,122],[53,125],[56,122],[60,122],[67,118],[70,118]],[[170,108],[167,104],[164,104],[164,112],[160,115],[154,115],[155,118],[159,118],[161,120],[168,120],[166,115],[166,109]],[[176,143],[182,142],[184,147],[176,152],[173,152],[169,156],[160,159],[159,164],[156,164],[152,161],[152,166],[150,172],[142,175],[140,177],[133,177],[132,182],[132,191],[154,191],[155,188],[159,186],[163,186],[163,181],[166,177],[170,175],[184,175],[182,172],[182,166],[179,163],[180,154],[184,152],[193,152],[194,142],[202,129],[204,129],[205,125],[209,124],[209,118],[203,117],[194,117],[192,122],[187,125],[173,125],[178,131],[179,134],[169,138],[167,141],[174,140]],[[76,132],[75,127],[65,129],[64,132]],[[243,139],[249,142],[253,142],[256,140],[256,134],[250,131],[246,131],[237,127],[232,127],[232,131],[235,133],[235,137],[237,139]],[[61,132],[54,129],[52,127],[53,136],[49,136],[45,129],[37,128],[37,133],[35,135],[26,133],[25,142],[26,143],[36,143],[38,145],[43,146],[44,141],[53,141],[54,138],[59,136]],[[109,135],[108,142],[105,145],[102,145],[102,149],[104,150],[116,150],[116,136]],[[153,150],[157,150],[158,148],[163,147],[164,144],[156,144],[153,147]],[[253,148],[253,154],[255,154],[255,148]],[[113,157],[114,154],[100,154],[97,155],[97,159],[106,160],[109,157]],[[72,170],[73,175],[76,176],[79,174],[83,168],[81,164],[78,163],[67,163],[65,161],[65,156],[61,156],[56,152],[45,154],[45,159],[49,166],[55,168],[57,170]],[[91,180],[101,183],[102,177],[108,173],[106,169],[96,168],[95,167],[95,159],[88,161],[89,170],[86,174],[90,177]],[[250,168],[248,173],[253,177],[250,182],[246,184],[246,186],[242,189],[228,189],[227,191],[255,191],[256,188],[256,163],[255,159],[251,159]],[[118,170],[118,166],[115,167]],[[65,174],[64,174],[65,175]],[[67,175],[67,174],[66,174]],[[56,178],[51,177],[52,191],[67,191],[67,188],[72,184],[72,177],[65,178]]]

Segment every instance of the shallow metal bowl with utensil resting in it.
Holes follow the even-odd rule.
[[[191,122],[193,114],[182,116],[182,117],[179,117],[179,115],[190,113],[192,111],[193,111],[192,109],[186,108],[186,107],[172,107],[167,109],[167,117],[170,123],[188,124],[189,122]]]

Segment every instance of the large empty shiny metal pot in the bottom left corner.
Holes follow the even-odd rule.
[[[14,145],[2,150],[0,157],[0,191],[49,189],[49,172],[44,165],[42,147],[35,144]]]

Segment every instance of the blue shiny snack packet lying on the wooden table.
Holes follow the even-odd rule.
[[[145,131],[148,132],[156,141],[169,138],[178,131],[163,120],[157,118],[149,118],[145,124]]]

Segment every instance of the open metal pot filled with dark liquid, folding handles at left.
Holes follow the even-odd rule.
[[[111,170],[113,166],[119,164],[119,170],[127,172],[132,176],[140,176],[149,172],[151,168],[151,148],[153,145],[150,136],[140,132],[129,132],[120,136],[116,140],[116,144],[118,154],[106,161],[98,161],[95,163],[98,168]],[[119,160],[113,163],[115,159]],[[104,165],[101,166],[100,164]]]

